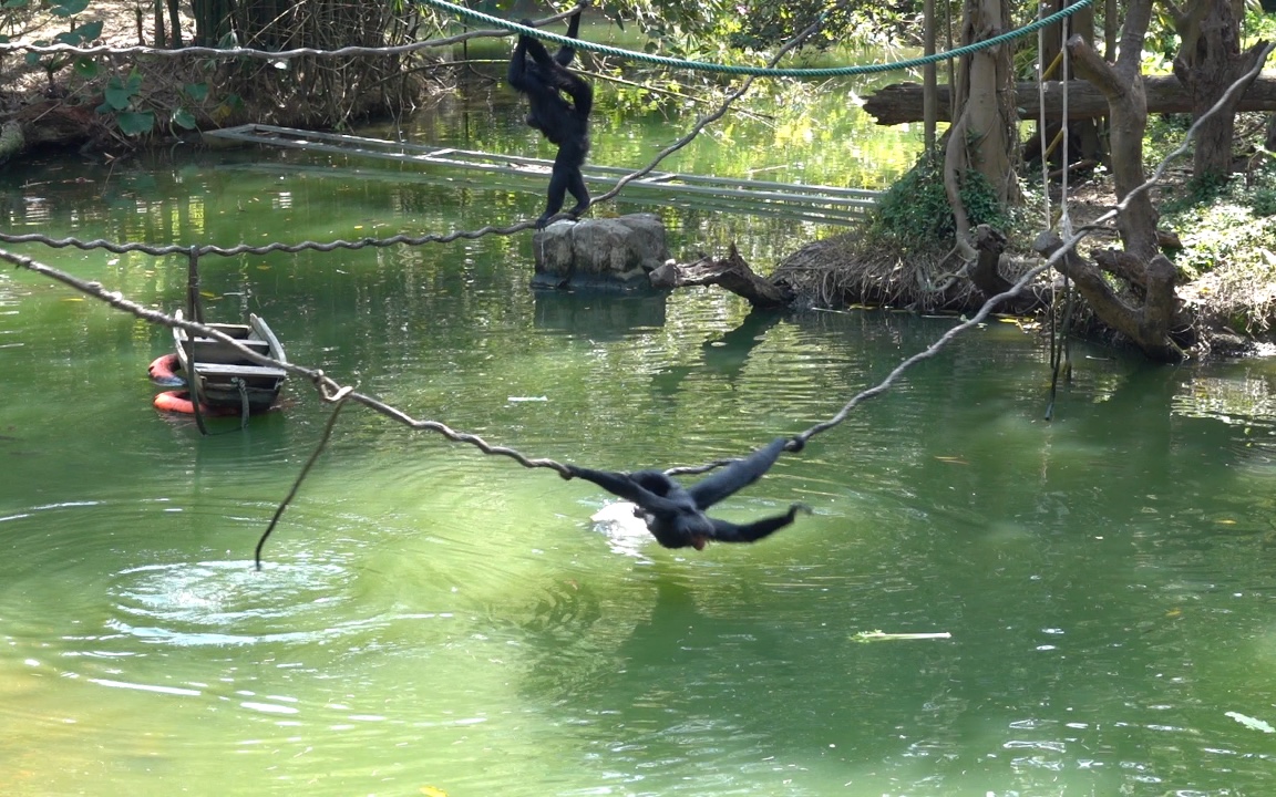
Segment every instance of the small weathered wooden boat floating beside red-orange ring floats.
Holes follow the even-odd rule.
[[[174,318],[182,320],[181,310],[174,312]],[[288,361],[279,339],[256,315],[250,315],[248,324],[205,324],[205,326],[235,338],[236,343],[255,353],[279,362]],[[248,400],[250,413],[264,412],[278,398],[288,376],[283,369],[254,362],[222,340],[193,338],[180,326],[174,328],[172,338],[188,385],[197,391],[200,403],[214,411],[226,408],[241,412],[244,402]]]

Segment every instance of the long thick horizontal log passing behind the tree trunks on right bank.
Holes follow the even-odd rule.
[[[1192,97],[1187,88],[1173,75],[1143,78],[1147,93],[1148,113],[1191,113]],[[1016,108],[1020,119],[1040,119],[1041,102],[1037,84],[1016,83]],[[864,110],[877,119],[879,125],[898,125],[921,121],[923,88],[920,83],[896,83],[880,88],[864,101]],[[952,121],[948,113],[951,92],[947,85],[938,87],[939,121]],[[1240,98],[1238,111],[1276,111],[1276,78],[1259,77]],[[1108,115],[1108,99],[1097,88],[1086,80],[1068,82],[1068,117],[1097,119]],[[1063,117],[1063,83],[1049,80],[1045,84],[1045,117],[1059,121]]]

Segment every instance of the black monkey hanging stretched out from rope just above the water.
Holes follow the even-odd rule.
[[[690,487],[683,487],[661,471],[615,473],[567,465],[568,473],[602,487],[638,505],[634,514],[643,519],[656,542],[666,548],[688,546],[703,551],[712,539],[718,542],[755,542],[794,522],[798,510],[810,511],[801,504],[792,504],[789,511],[773,518],[763,518],[746,525],[736,525],[704,514],[722,499],[758,481],[780,454],[790,445],[787,437],[778,437],[744,459],[738,459],[722,471]],[[803,441],[792,440],[791,450],[801,450]]]

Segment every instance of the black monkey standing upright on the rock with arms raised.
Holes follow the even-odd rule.
[[[522,24],[531,27],[531,20]],[[581,11],[572,15],[568,38],[578,38]],[[531,62],[527,61],[531,56]],[[590,208],[590,191],[584,187],[581,167],[590,152],[590,111],[593,110],[593,88],[567,66],[575,56],[575,48],[563,45],[550,57],[540,40],[519,36],[514,55],[509,59],[509,84],[521,94],[527,94],[527,124],[540,130],[545,138],[558,144],[554,173],[550,176],[549,201],[545,213],[536,219],[536,227],[549,223],[563,209],[563,200],[570,191],[575,207],[568,213],[573,218]],[[563,98],[565,92],[572,102]]]

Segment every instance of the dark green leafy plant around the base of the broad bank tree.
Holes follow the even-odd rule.
[[[988,180],[971,170],[961,186],[970,223],[1005,228],[1009,217]],[[951,245],[957,219],[944,191],[943,162],[923,154],[878,200],[868,232],[878,242],[902,251],[926,251]]]

